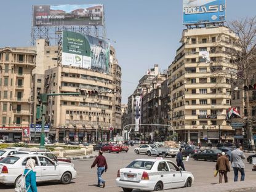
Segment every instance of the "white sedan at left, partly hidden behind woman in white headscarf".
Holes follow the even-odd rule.
[[[14,154],[0,161],[0,183],[15,184],[25,170],[28,159],[36,161],[36,182],[60,181],[68,184],[76,178],[74,164],[58,164],[39,154]]]

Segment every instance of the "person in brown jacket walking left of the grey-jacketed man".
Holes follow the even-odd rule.
[[[225,152],[222,152],[222,156],[217,159],[216,162],[216,170],[218,170],[218,174],[220,175],[218,183],[222,183],[222,178],[224,176],[225,183],[228,183],[228,172],[230,172],[230,162],[228,158],[226,158]]]

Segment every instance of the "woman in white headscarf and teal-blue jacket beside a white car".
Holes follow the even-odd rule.
[[[28,175],[26,175],[27,192],[38,192],[38,188],[36,188],[36,172],[34,171],[34,166],[36,166],[36,161],[34,161],[34,159],[28,159],[24,171],[24,174],[29,172]]]

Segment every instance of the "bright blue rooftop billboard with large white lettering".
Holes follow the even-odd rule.
[[[226,20],[226,0],[183,0],[183,24],[218,23]]]

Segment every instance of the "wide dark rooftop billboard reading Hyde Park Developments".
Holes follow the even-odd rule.
[[[33,6],[33,26],[85,26],[102,24],[102,4]]]

